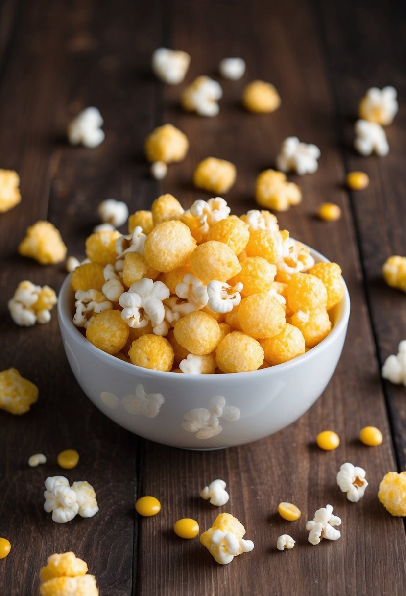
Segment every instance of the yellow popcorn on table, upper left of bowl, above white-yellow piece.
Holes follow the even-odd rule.
[[[18,245],[18,253],[41,265],[51,265],[65,260],[67,248],[51,222],[38,221],[27,228],[26,237]]]

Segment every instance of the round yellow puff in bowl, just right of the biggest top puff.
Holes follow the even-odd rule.
[[[204,284],[212,280],[227,281],[241,271],[235,252],[223,242],[208,240],[190,254],[193,274]]]

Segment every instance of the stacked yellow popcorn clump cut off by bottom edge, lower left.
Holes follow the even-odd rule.
[[[96,578],[88,575],[87,564],[73,552],[48,557],[40,578],[39,596],[99,596]]]

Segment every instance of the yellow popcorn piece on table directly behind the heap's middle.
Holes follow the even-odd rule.
[[[235,183],[237,170],[233,163],[216,157],[206,157],[198,163],[193,174],[193,184],[216,195],[228,193]]]

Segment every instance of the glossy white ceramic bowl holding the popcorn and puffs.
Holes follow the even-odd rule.
[[[311,250],[316,262],[326,261]],[[331,314],[329,335],[289,362],[251,373],[185,375],[136,367],[102,352],[73,325],[70,276],[61,287],[58,319],[68,362],[95,406],[117,424],[157,443],[221,449],[276,433],[323,393],[340,358],[349,295]]]

